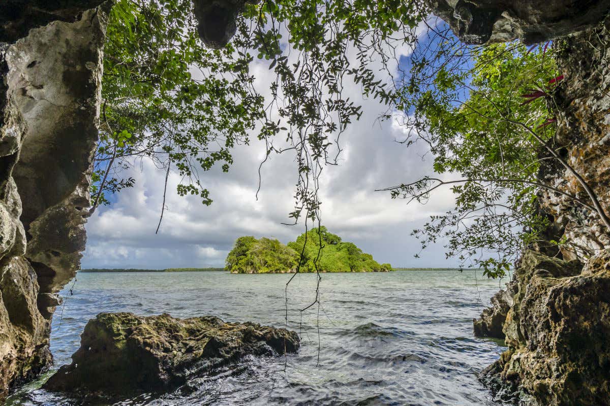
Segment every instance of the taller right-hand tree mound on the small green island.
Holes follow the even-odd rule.
[[[310,229],[288,246],[302,255],[301,272],[380,272],[392,270],[379,264],[371,254],[363,253],[354,243],[342,242],[326,227]]]

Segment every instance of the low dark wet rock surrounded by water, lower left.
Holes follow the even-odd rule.
[[[295,332],[255,323],[100,313],[85,326],[72,363],[62,366],[44,388],[104,396],[167,391],[246,355],[298,348]]]

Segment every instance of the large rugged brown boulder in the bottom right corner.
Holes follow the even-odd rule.
[[[581,267],[524,254],[519,292],[504,324],[509,349],[483,372],[484,382],[505,399],[610,405],[610,250]]]

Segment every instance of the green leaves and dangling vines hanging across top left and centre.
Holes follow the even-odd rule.
[[[133,185],[120,176],[135,157],[177,170],[178,194],[209,205],[199,173],[215,164],[229,170],[232,148],[251,135],[265,141],[267,156],[296,154],[290,217],[314,220],[318,176],[336,164],[340,135],[362,114],[343,96],[344,83],[392,103],[392,78],[379,79],[369,62],[379,54],[396,60],[393,47],[415,43],[426,15],[418,2],[398,0],[246,4],[232,42],[213,51],[196,36],[191,0],[118,0],[104,57],[94,204]],[[255,58],[274,79],[256,85]]]

